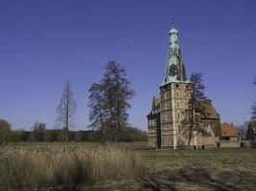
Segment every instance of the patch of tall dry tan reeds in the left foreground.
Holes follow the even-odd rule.
[[[7,145],[0,154],[1,190],[94,184],[144,173],[138,154],[115,144]]]

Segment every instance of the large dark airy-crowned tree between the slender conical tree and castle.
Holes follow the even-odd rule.
[[[128,100],[134,96],[129,84],[125,68],[109,61],[101,83],[93,84],[89,90],[91,126],[111,132],[115,141],[120,140],[122,130],[128,127]]]

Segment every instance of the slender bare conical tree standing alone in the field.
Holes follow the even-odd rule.
[[[77,103],[74,100],[73,92],[69,81],[66,82],[56,113],[56,124],[65,133],[65,141],[68,142],[68,131],[74,127],[77,113]]]

